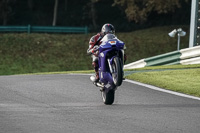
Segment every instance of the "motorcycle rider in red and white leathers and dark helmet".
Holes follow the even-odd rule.
[[[87,53],[92,54],[92,66],[95,70],[95,82],[99,81],[98,47],[101,44],[101,39],[108,33],[115,34],[115,28],[112,24],[106,23],[102,26],[101,32],[92,36],[89,41],[89,48],[87,50]]]

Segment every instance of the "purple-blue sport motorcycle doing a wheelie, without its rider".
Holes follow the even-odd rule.
[[[114,102],[117,87],[123,82],[125,44],[114,34],[106,34],[100,42],[97,48],[99,81],[95,82],[95,76],[91,76],[90,80],[100,87],[104,104],[111,105]]]

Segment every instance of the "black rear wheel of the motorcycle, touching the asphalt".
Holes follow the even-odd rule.
[[[111,105],[114,102],[115,99],[115,90],[109,90],[108,92],[106,92],[105,90],[101,92],[102,98],[103,98],[103,102],[106,105]]]

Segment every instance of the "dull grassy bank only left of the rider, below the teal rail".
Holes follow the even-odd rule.
[[[86,35],[1,34],[0,75],[88,70],[88,40]]]

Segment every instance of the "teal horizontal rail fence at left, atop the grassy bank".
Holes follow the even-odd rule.
[[[58,26],[0,26],[0,32],[27,32],[27,33],[85,33],[88,27],[58,27]]]

